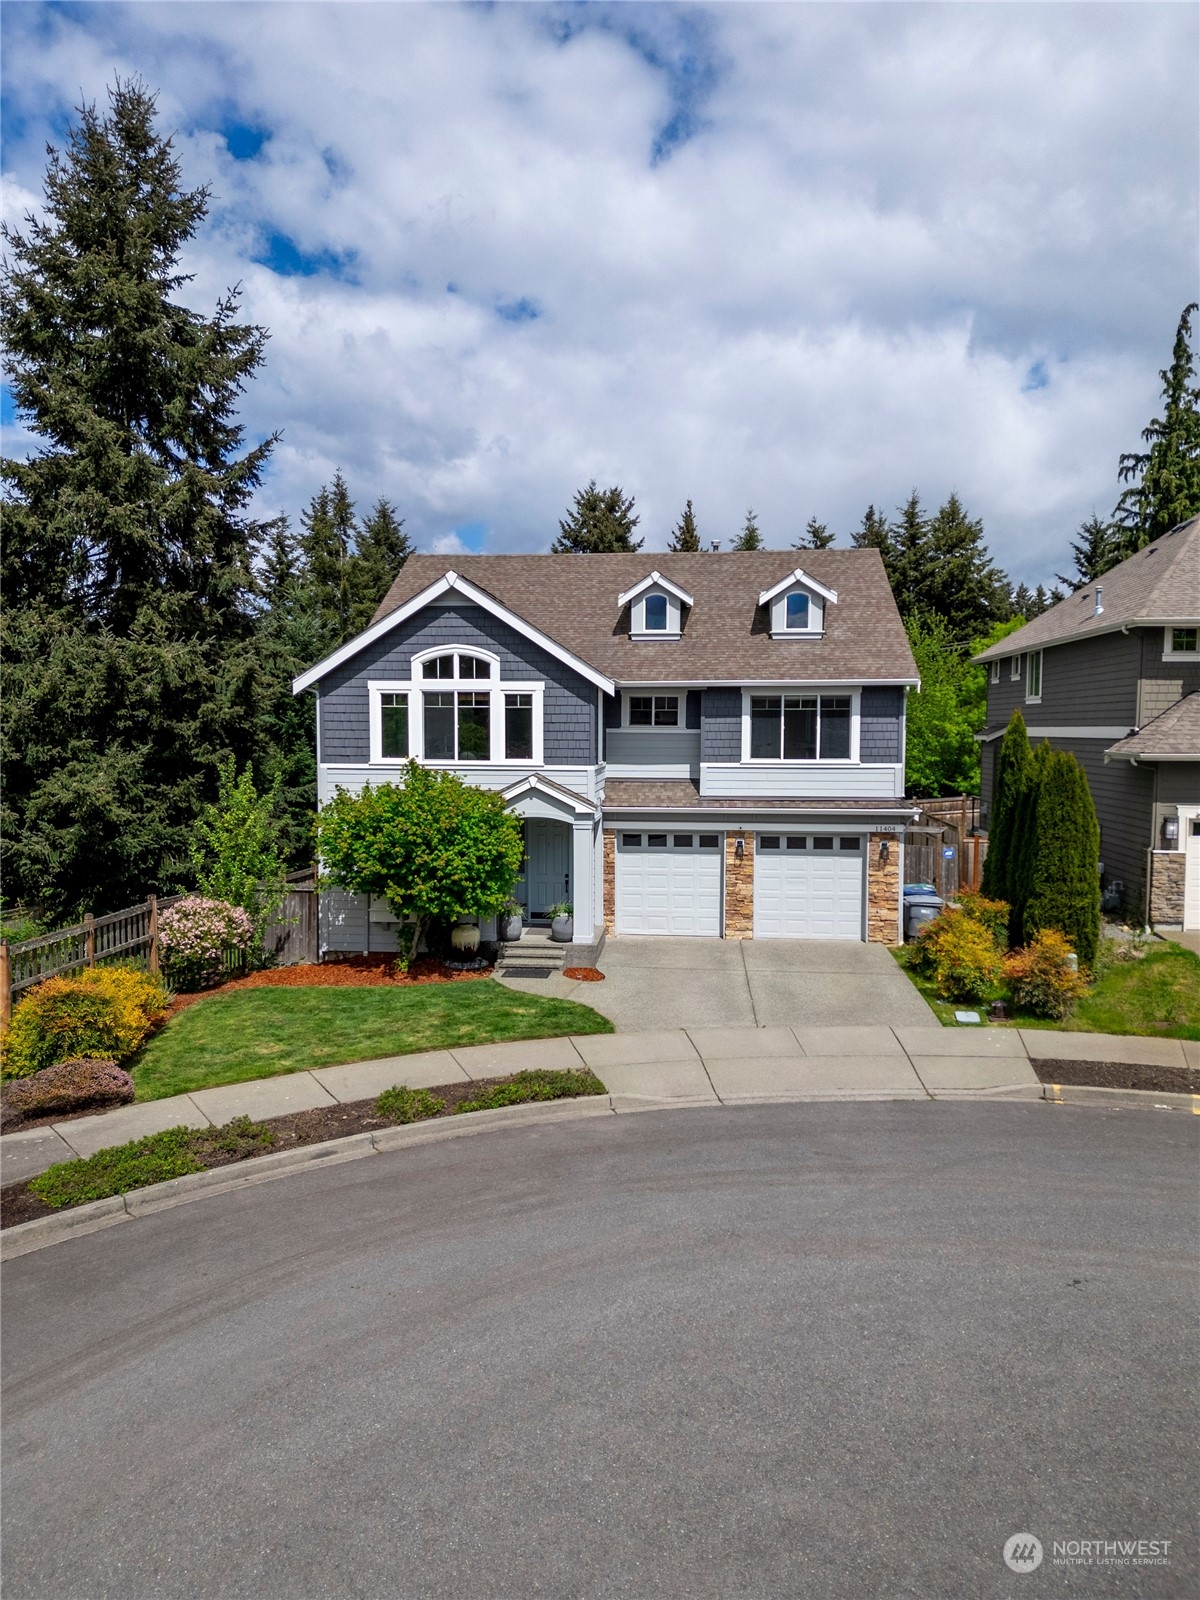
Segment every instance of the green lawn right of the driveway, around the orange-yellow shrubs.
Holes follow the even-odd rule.
[[[896,960],[907,971],[904,950],[896,950]],[[907,976],[947,1027],[958,1026],[954,1021],[955,1010],[987,1013],[987,1002],[976,1005],[939,1000],[931,984],[914,973]],[[1016,1013],[1006,1026],[1067,1029],[1074,1034],[1200,1038],[1200,957],[1179,944],[1152,944],[1139,962],[1106,965],[1066,1022]]]

